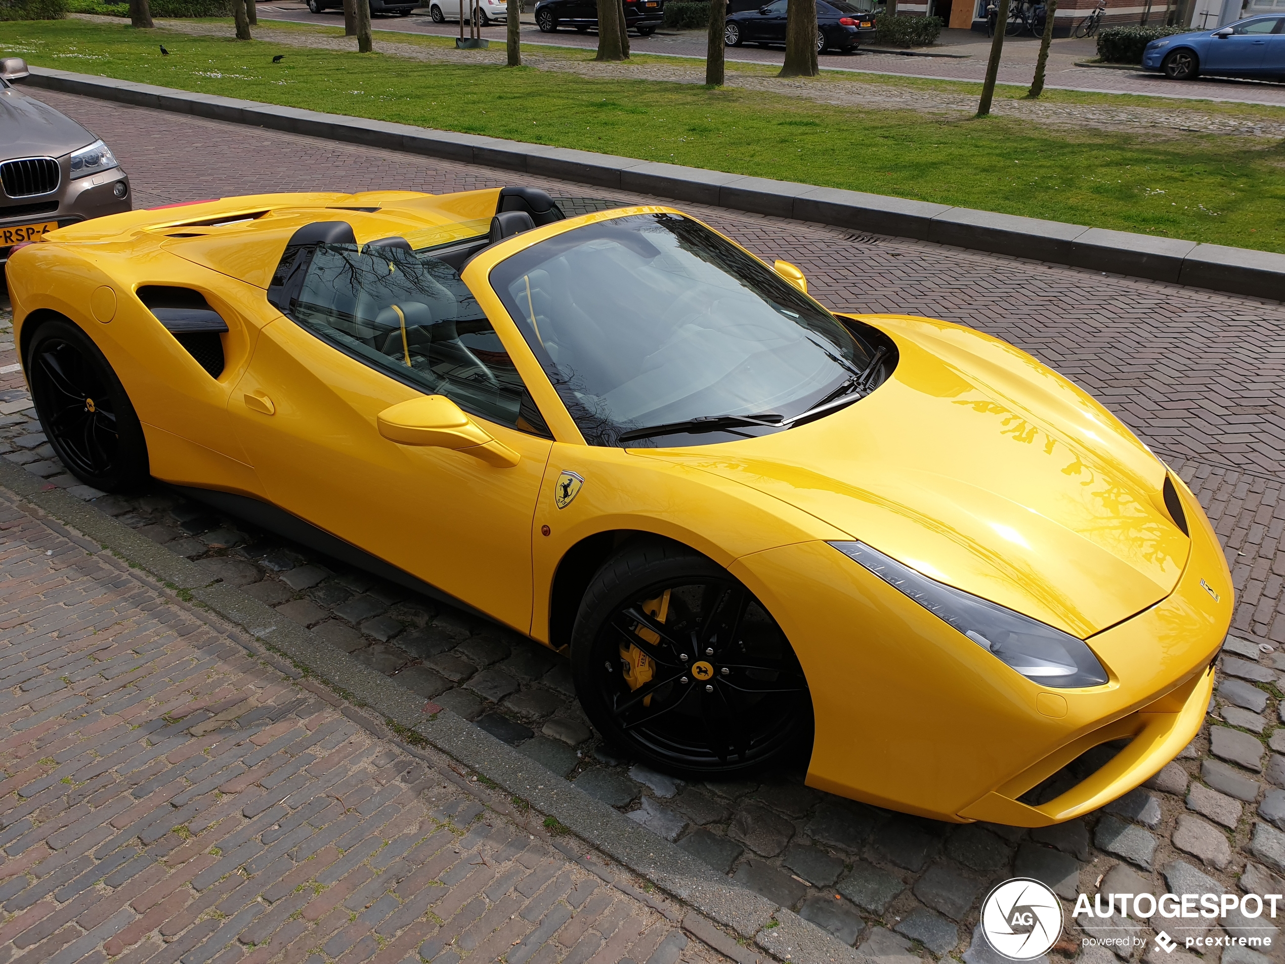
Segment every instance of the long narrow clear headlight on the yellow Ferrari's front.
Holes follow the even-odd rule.
[[[1106,683],[1106,671],[1082,639],[930,580],[865,542],[830,545],[1032,683],[1051,689],[1083,689]]]

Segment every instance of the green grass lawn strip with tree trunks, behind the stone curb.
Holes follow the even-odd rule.
[[[262,26],[289,24],[263,21]],[[635,80],[628,66],[619,67],[617,77],[585,78],[531,67],[429,64],[378,53],[236,42],[230,23],[227,32],[229,39],[217,39],[135,31],[127,23],[6,23],[0,54],[289,107],[1285,252],[1285,141],[860,111],[775,94]],[[377,33],[377,45],[380,37],[393,35]],[[451,44],[423,35],[396,35],[396,40]],[[162,41],[170,57],[161,57]],[[554,50],[538,48],[545,55]],[[274,66],[278,53],[287,57]],[[592,53],[563,49],[558,55],[590,59]],[[830,76],[852,82],[893,80]],[[905,86],[912,84],[907,78]],[[997,95],[1022,93],[1001,87]],[[1277,123],[1285,118],[1285,108],[1069,91],[1045,96],[1068,104],[1236,113]]]

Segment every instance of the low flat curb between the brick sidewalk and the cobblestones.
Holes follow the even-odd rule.
[[[698,915],[687,915],[693,920],[693,927],[687,929],[707,943],[711,942],[708,937],[714,942],[726,941],[726,947],[720,947],[725,952],[738,947],[744,950],[735,940],[708,924],[704,929],[712,933],[702,937],[699,915],[722,924],[740,938],[757,942],[768,952],[775,952],[781,946],[780,938],[785,931],[780,934],[775,932],[780,924],[788,924],[790,946],[794,949],[793,961],[858,961],[852,947],[816,924],[732,883],[686,851],[634,823],[614,807],[590,797],[573,783],[461,716],[448,710],[425,713],[428,704],[423,697],[323,641],[311,630],[283,620],[280,613],[240,589],[221,582],[211,584],[208,575],[195,563],[140,536],[93,504],[84,503],[5,460],[0,460],[0,486],[116,553],[131,567],[152,573],[172,590],[190,593],[193,600],[243,627],[260,643],[284,653],[398,726],[412,729],[437,749],[477,770],[505,792],[524,798],[537,811],[556,817],[592,847],[695,909]],[[779,923],[772,924],[774,920]],[[815,954],[801,956],[798,951],[803,947],[812,949]],[[790,954],[790,950],[783,951],[783,959],[785,954]],[[753,955],[741,956],[753,959]]]

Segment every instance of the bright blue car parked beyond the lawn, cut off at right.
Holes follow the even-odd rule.
[[[1171,80],[1199,75],[1285,80],[1285,17],[1249,17],[1216,31],[1176,33],[1153,40],[1142,51],[1142,69]]]

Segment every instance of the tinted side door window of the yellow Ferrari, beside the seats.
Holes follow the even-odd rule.
[[[310,332],[400,382],[547,436],[499,335],[445,261],[319,244],[289,307]]]

